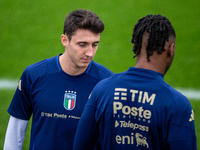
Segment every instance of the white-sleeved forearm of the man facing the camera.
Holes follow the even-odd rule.
[[[21,120],[10,116],[5,136],[4,150],[22,150],[28,122],[28,120]]]

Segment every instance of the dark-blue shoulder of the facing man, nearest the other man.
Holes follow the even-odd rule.
[[[114,75],[111,70],[94,61],[91,62],[88,74],[100,80]]]

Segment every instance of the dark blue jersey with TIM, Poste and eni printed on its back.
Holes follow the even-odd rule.
[[[196,150],[189,100],[163,74],[130,67],[100,81],[77,128],[74,150]]]

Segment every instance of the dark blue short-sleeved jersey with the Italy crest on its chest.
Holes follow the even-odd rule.
[[[72,149],[83,108],[93,87],[113,73],[92,61],[77,76],[66,74],[59,56],[28,66],[23,72],[10,115],[29,120],[32,116],[30,150]]]

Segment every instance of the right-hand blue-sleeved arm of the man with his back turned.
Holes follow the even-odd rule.
[[[197,150],[194,112],[190,101],[171,88],[175,110],[169,122],[168,143],[170,150]]]

